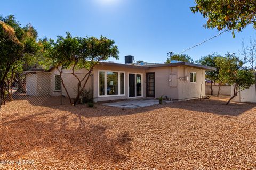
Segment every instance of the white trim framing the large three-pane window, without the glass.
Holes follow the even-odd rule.
[[[104,72],[104,95],[100,95],[100,72]],[[107,95],[107,72],[118,73],[118,95]],[[124,94],[121,94],[121,79],[120,74],[124,74]],[[115,97],[115,96],[125,96],[125,72],[124,71],[112,71],[112,70],[98,70],[98,97]]]

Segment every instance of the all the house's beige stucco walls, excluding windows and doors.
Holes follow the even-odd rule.
[[[125,73],[125,95],[120,96],[99,96],[98,95],[98,72],[100,70],[105,71],[122,71]],[[70,74],[71,70],[63,70],[62,78],[66,85],[66,88],[70,94],[71,98],[76,96],[74,88],[77,84],[77,80],[74,75]],[[84,74],[87,71],[81,69],[76,71],[78,77],[82,79]],[[167,96],[170,99],[174,100],[187,100],[199,98],[205,96],[205,70],[196,69],[193,67],[187,66],[177,66],[177,67],[157,67],[150,69],[137,69],[137,68],[127,68],[119,66],[107,66],[107,65],[97,65],[94,67],[93,74],[89,79],[85,89],[93,89],[93,97],[95,102],[99,101],[109,101],[109,100],[119,100],[119,99],[128,99],[129,98],[129,73],[142,74],[142,96],[146,97],[146,73],[154,72],[155,73],[155,98],[158,98],[163,95]],[[190,82],[190,72],[197,73],[197,82]],[[59,72],[57,69],[53,69],[50,76],[50,95],[51,96],[60,96],[60,92],[54,91],[54,75],[58,75]],[[170,75],[175,75],[172,79],[176,79],[175,82],[177,86],[170,85]],[[188,76],[188,81],[185,80]],[[184,78],[185,79],[180,79]],[[203,82],[203,83],[202,83]],[[175,83],[174,83],[175,84]],[[201,89],[202,85],[202,89]],[[172,86],[172,87],[170,87]],[[201,91],[202,90],[202,91]],[[67,96],[65,90],[62,88],[62,94]],[[141,98],[138,97],[138,98]]]

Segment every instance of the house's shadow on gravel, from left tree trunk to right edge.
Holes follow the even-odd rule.
[[[161,109],[166,107],[182,109],[184,110],[184,112],[196,111],[196,112],[204,112],[204,113],[213,113],[218,115],[238,116],[240,114],[243,114],[246,111],[256,108],[256,104],[251,104],[251,103],[230,103],[229,105],[226,105],[226,101],[225,100],[223,101],[223,99],[221,98],[180,101],[180,102],[174,102],[174,103],[167,103],[163,105],[140,107],[136,109],[122,109],[122,108],[116,108],[111,106],[105,106],[101,104],[97,104],[96,106],[97,108],[87,108],[86,106],[83,106],[83,105],[78,105],[77,107],[53,106],[51,108],[60,109],[63,111],[69,111],[71,113],[74,113],[76,115],[82,115],[84,117],[129,115],[129,114],[149,112],[149,111],[153,111],[154,109]]]

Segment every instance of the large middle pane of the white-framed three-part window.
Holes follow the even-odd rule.
[[[118,73],[107,72],[107,95],[118,95]]]

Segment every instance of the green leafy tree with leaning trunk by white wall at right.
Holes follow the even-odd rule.
[[[251,69],[243,67],[243,62],[235,54],[227,53],[224,58],[223,67],[220,74],[225,78],[227,83],[233,86],[233,96],[227,104],[237,96],[238,92],[250,88],[254,84],[254,75]]]

